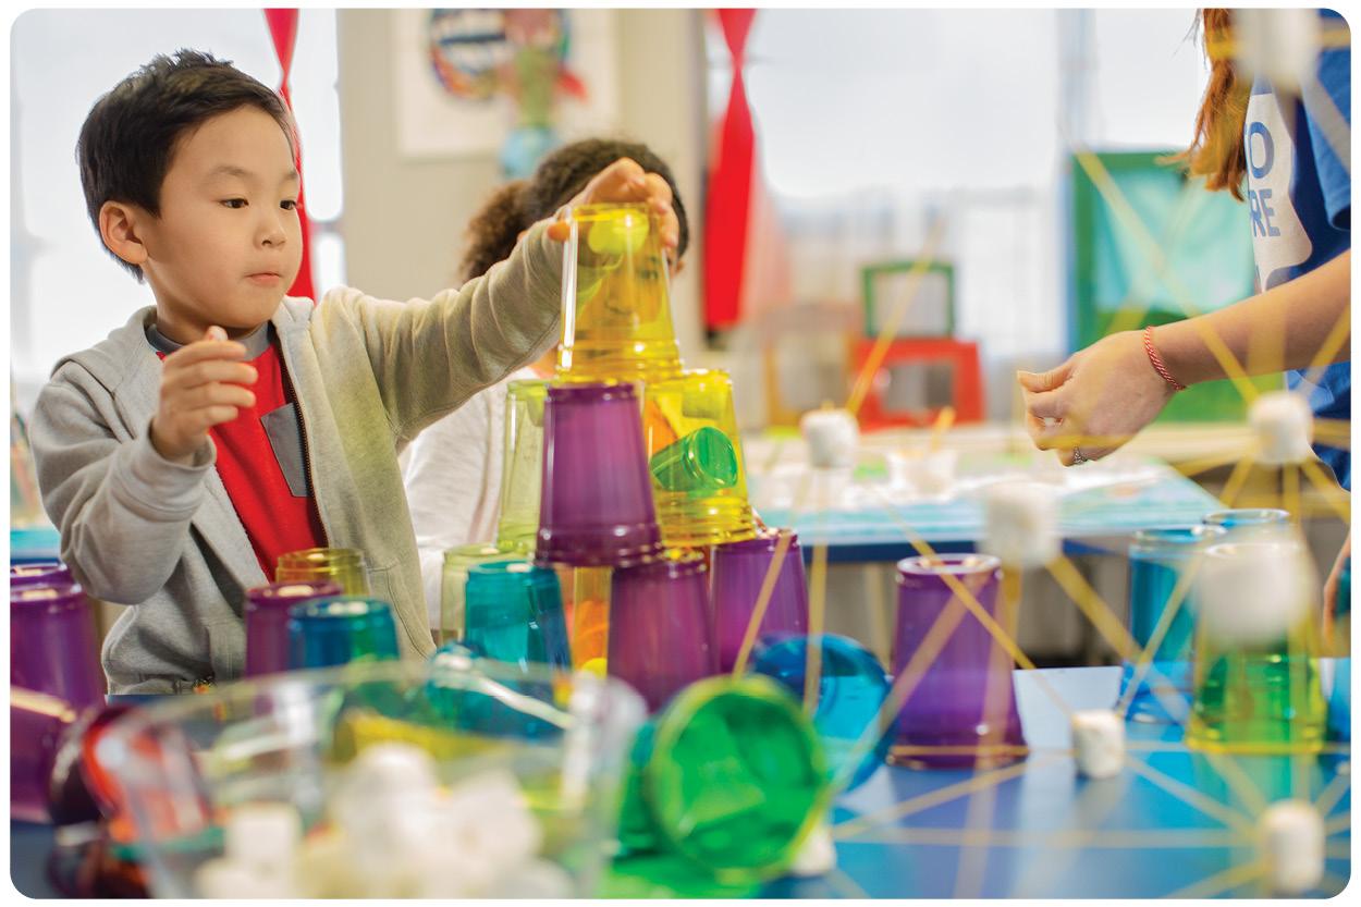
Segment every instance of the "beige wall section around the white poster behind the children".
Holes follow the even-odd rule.
[[[619,10],[622,138],[646,142],[675,172],[691,251],[672,287],[682,354],[701,354],[698,234],[705,142],[702,23],[695,10]],[[430,296],[453,281],[468,218],[501,182],[494,155],[407,159],[397,147],[392,12],[342,10],[340,132],[346,278],[387,298]]]

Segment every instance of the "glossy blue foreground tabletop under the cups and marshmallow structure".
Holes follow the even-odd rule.
[[[1249,838],[1230,840],[1225,824],[1233,813],[1251,824],[1260,802],[1285,797],[1320,795],[1335,802],[1327,814],[1330,836],[1324,885],[1315,895],[1337,893],[1350,877],[1350,764],[1347,756],[1232,757],[1241,769],[1237,787],[1225,783],[1209,760],[1191,753],[1180,729],[1128,725],[1131,760],[1165,776],[1175,790],[1199,793],[1204,805],[1187,802],[1142,774],[1126,768],[1106,780],[1077,775],[1068,748],[1068,722],[1040,681],[1070,710],[1109,708],[1119,693],[1119,667],[1044,669],[1017,671],[1021,720],[1032,748],[1006,780],[974,794],[954,790],[970,778],[981,780],[998,769],[883,767],[862,787],[842,797],[833,816],[834,833],[844,823],[870,817],[896,803],[934,794],[936,802],[911,816],[882,824],[862,824],[859,833],[837,842],[837,872],[810,880],[785,878],[761,892],[770,897],[1157,897],[1181,892],[1253,857]],[[1308,776],[1308,793],[1293,789],[1296,768]],[[939,791],[939,793],[935,793]],[[1237,795],[1236,795],[1237,794]],[[1252,802],[1239,795],[1251,797]],[[1210,812],[1206,812],[1209,809]],[[1213,814],[1211,814],[1213,813]],[[1230,820],[1232,821],[1232,820]],[[841,832],[836,825],[841,825]],[[991,840],[969,840],[965,829],[983,829]],[[893,829],[905,829],[894,832]],[[44,863],[52,829],[29,823],[10,824],[11,877],[33,897],[56,892]],[[1055,833],[1068,832],[1068,840]],[[1085,847],[1071,846],[1071,832],[1092,832]],[[891,840],[894,833],[916,836],[912,843]],[[1190,893],[1190,892],[1188,892]],[[1232,896],[1259,896],[1253,881],[1222,891]]]

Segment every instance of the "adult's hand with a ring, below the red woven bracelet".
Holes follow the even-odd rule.
[[[1017,372],[1025,391],[1026,430],[1041,451],[1059,451],[1072,466],[1074,451],[1098,460],[1157,418],[1172,385],[1153,369],[1138,331],[1097,340],[1056,369]]]

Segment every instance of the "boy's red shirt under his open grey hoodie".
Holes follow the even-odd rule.
[[[259,375],[250,388],[256,404],[242,409],[233,421],[212,426],[208,434],[218,448],[218,477],[241,518],[260,569],[274,582],[280,554],[324,547],[327,534],[312,497],[302,418],[293,387],[279,347],[268,338],[268,325],[260,330],[265,332],[260,338],[264,349],[248,360]],[[159,335],[150,339],[163,360],[170,343]],[[252,335],[242,342],[252,349],[255,339]]]

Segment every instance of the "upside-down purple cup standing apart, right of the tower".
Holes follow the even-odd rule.
[[[902,674],[932,624],[954,598],[943,579],[960,580],[998,618],[1002,562],[987,554],[938,554],[898,561],[898,625],[893,673]],[[898,712],[889,761],[913,768],[996,765],[1025,756],[1011,685],[1011,656],[961,607],[950,632]]]

